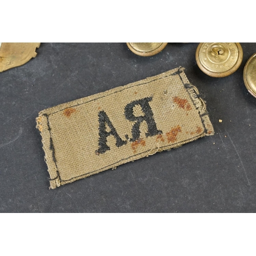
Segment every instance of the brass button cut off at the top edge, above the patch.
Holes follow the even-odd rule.
[[[153,56],[161,52],[167,42],[126,42],[129,49],[140,56]]]

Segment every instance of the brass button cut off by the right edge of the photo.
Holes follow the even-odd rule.
[[[244,83],[249,93],[256,98],[256,53],[245,64]]]

